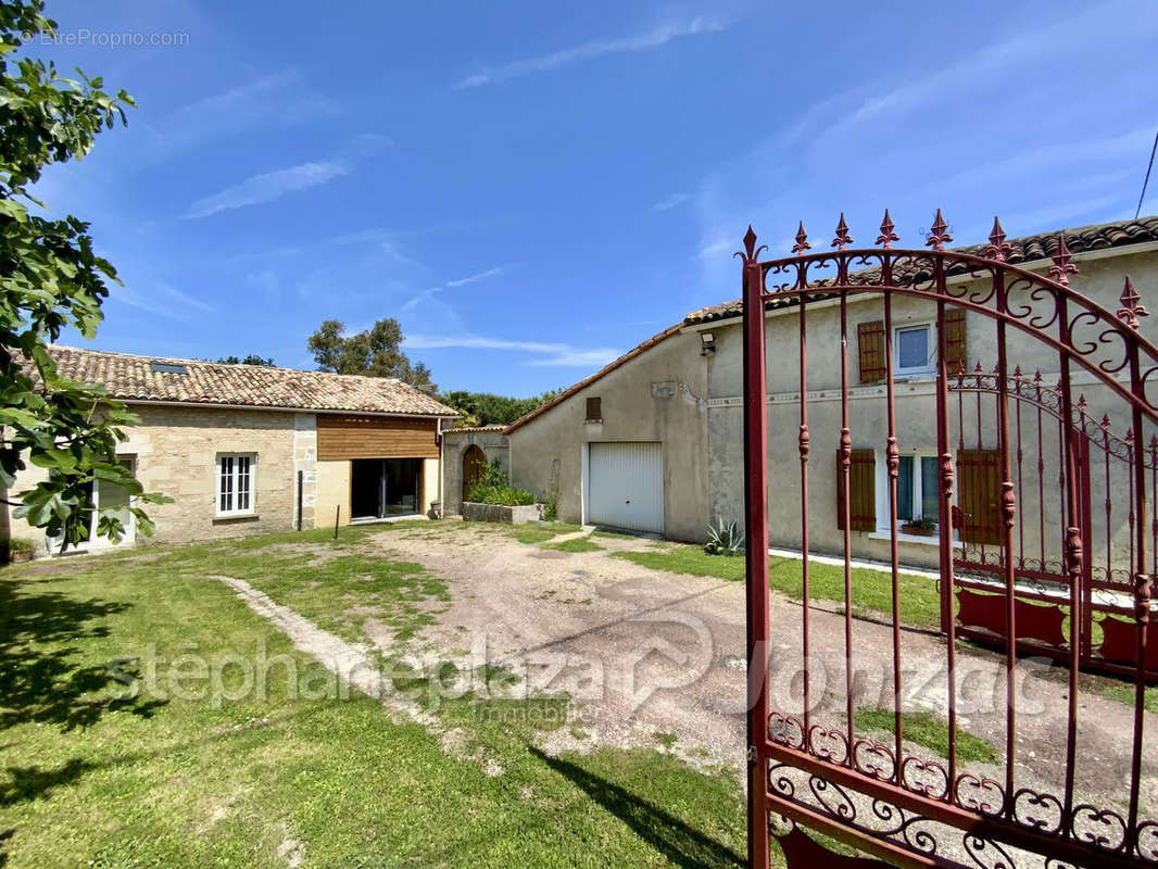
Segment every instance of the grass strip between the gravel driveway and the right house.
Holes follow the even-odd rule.
[[[687,543],[647,552],[611,553],[652,570],[668,570],[692,576],[713,576],[730,582],[743,582],[745,560],[727,555],[709,555],[698,546]],[[768,584],[793,600],[804,598],[797,558],[768,558]],[[853,613],[872,611],[888,619],[893,611],[893,579],[889,574],[866,568],[852,570]],[[808,589],[813,600],[844,604],[844,568],[811,562]],[[900,575],[901,621],[918,628],[940,627],[940,596],[931,579],[910,574]]]

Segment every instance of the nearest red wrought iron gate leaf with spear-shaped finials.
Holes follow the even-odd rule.
[[[926,241],[929,250],[894,248],[897,235],[887,211],[875,248],[852,249],[843,214],[831,250],[809,253],[802,226],[787,258],[762,261],[765,248],[756,241],[749,227],[745,249],[738,254],[743,261],[745,302],[749,864],[768,866],[770,837],[779,841],[793,869],[846,860],[829,854],[818,863],[819,846],[801,827],[906,867],[1158,863],[1158,821],[1150,819],[1156,806],[1149,802],[1156,771],[1144,740],[1158,542],[1150,510],[1158,483],[1152,455],[1148,460],[1148,450],[1141,446],[1156,443],[1158,430],[1158,395],[1151,382],[1158,377],[1158,349],[1138,334],[1138,317],[1146,311],[1129,279],[1120,308],[1112,313],[1069,286],[1076,268],[1064,239],[1058,239],[1048,275],[1041,276],[1006,262],[1010,246],[996,220],[983,253],[947,250],[951,238],[939,211]],[[865,305],[882,309],[881,329],[863,331],[882,331],[884,382],[858,387],[849,358],[850,335],[856,334],[850,331],[850,317],[859,316]],[[778,316],[765,317],[770,308],[780,309]],[[960,433],[966,411],[963,404],[954,409],[951,394],[951,381],[960,372],[950,367],[952,342],[963,343],[954,329],[963,321],[982,328],[970,334],[970,343],[992,344],[996,353],[988,382],[992,418],[982,421],[979,411],[980,450],[972,447],[981,470],[972,468],[968,476],[963,473],[968,447]],[[835,345],[809,355],[809,338],[831,342],[833,336]],[[776,355],[771,367],[767,348]],[[872,355],[862,356],[862,368],[870,364],[866,359],[872,362]],[[1034,359],[1049,363],[1042,367],[1056,366],[1058,448],[1039,451],[1032,462],[1036,469],[1040,461],[1040,469],[1026,484],[1018,366]],[[1085,394],[1080,403],[1078,378]],[[770,384],[779,396],[771,411]],[[1107,472],[1104,532],[1090,518],[1092,461],[1085,425],[1087,416],[1100,414],[1107,434],[1112,428],[1124,431],[1121,443],[1133,445],[1117,457],[1121,467]],[[915,443],[922,438],[929,443]],[[790,453],[799,459],[796,472],[786,470],[784,457]],[[770,454],[777,459],[772,463]],[[811,475],[821,457],[834,454],[835,475],[827,465]],[[872,477],[860,470],[853,475],[855,454],[882,459],[881,482],[872,497],[864,488],[857,491],[858,482],[867,485]],[[834,476],[837,485],[829,488],[824,481]],[[1047,482],[1035,496],[1038,480]],[[1056,481],[1056,492],[1050,481]],[[771,513],[770,484],[777,491]],[[799,509],[785,511],[793,491]],[[1115,512],[1113,504],[1127,498],[1128,511]],[[875,528],[863,516],[874,499],[882,505],[877,514],[885,514]],[[823,502],[831,510],[818,513],[814,507]],[[962,504],[991,507],[996,518],[963,517]],[[1040,521],[1025,521],[1019,511]],[[916,521],[918,512],[921,527],[936,533],[941,640],[909,631],[902,619],[909,606],[904,589],[913,586],[902,585],[901,550],[914,541],[900,526],[904,517]],[[1127,512],[1126,521],[1114,521]],[[984,530],[989,554],[980,561],[970,560],[969,542],[957,527],[963,521],[980,523]],[[777,611],[793,613],[790,621],[780,619],[775,626],[779,648],[791,645],[793,652],[775,666],[770,665],[770,533],[777,542],[800,549],[804,604],[799,616],[794,609]],[[973,533],[967,531],[966,538]],[[1056,560],[1045,554],[1047,543]],[[1027,664],[1019,660],[1025,648],[1018,626],[1027,619],[1025,606],[1042,605],[1026,597],[1033,592],[1026,583],[1034,579],[1027,574],[1036,569],[1058,579],[1062,593],[1053,593],[1049,606],[1069,625],[1080,626],[1095,613],[1091,569],[1095,545],[1106,553],[1102,584],[1117,596],[1116,604],[1123,599],[1128,604],[1112,615],[1104,607],[1100,615],[1101,621],[1115,622],[1114,663],[1131,679],[1133,709],[1123,708],[1121,724],[1113,726],[1107,724],[1114,717],[1108,708],[1098,707],[1097,718],[1083,717],[1087,704],[1104,701],[1080,691],[1083,655],[1093,648],[1080,628],[1053,637],[1064,671],[1051,699],[1040,709],[1027,708],[1019,687]],[[1040,554],[1036,564],[1027,561],[1034,547]],[[837,614],[812,606],[811,574],[821,568],[809,553],[823,548],[843,550],[844,599]],[[858,622],[860,590],[879,584],[882,575],[862,574],[857,558],[881,550],[889,563],[882,580],[891,604],[888,625]],[[970,589],[970,577],[983,578],[984,586]],[[985,597],[982,608],[990,627],[997,628],[990,638],[996,637],[999,653],[959,651],[959,633],[975,627],[961,623],[961,596],[969,593]],[[1128,660],[1120,649],[1123,630],[1133,641]],[[886,638],[891,649],[880,648]],[[938,688],[945,735],[945,747],[938,751],[918,745],[907,729],[907,716],[915,711],[907,665],[926,664],[935,656],[940,666],[929,684]],[[887,737],[873,736],[878,731],[860,723],[865,659],[887,671],[884,693],[891,701],[885,711],[892,730]],[[783,687],[785,673],[787,688],[774,691],[774,680]],[[965,681],[977,674],[992,677],[995,706],[970,710],[969,720],[996,722],[992,726],[1001,737],[995,739],[996,761],[977,761],[960,747],[967,723],[961,710]],[[1116,742],[1109,745],[1111,740]],[[1109,775],[1107,765],[1113,767]]]

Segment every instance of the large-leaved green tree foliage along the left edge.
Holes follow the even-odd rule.
[[[80,71],[66,79],[51,64],[16,58],[22,39],[54,32],[43,12],[43,0],[0,3],[0,494],[15,516],[68,546],[88,535],[98,481],[127,490],[145,534],[152,525],[140,504],[167,498],[145,494],[117,462],[120,426],[137,417],[102,389],[60,377],[47,352],[67,326],[95,335],[105,280],[117,275],[94,253],[87,222],[29,213],[30,204],[46,206],[28,188],[44,167],[85,156],[101,130],[124,124],[133,101]],[[10,501],[25,462],[47,479]],[[112,511],[97,516],[97,534],[119,540],[124,532]]]

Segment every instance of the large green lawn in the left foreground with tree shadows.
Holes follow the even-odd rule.
[[[328,673],[210,578],[245,579],[346,638],[367,618],[413,636],[448,590],[362,552],[382,531],[0,570],[0,866],[742,864],[733,776],[651,750],[548,758],[528,709],[565,698],[444,702],[441,722],[464,733],[459,758],[357,693],[306,699]],[[222,666],[241,699],[197,696],[197,658],[262,652],[280,662],[263,693]],[[126,673],[154,688],[124,696]]]

